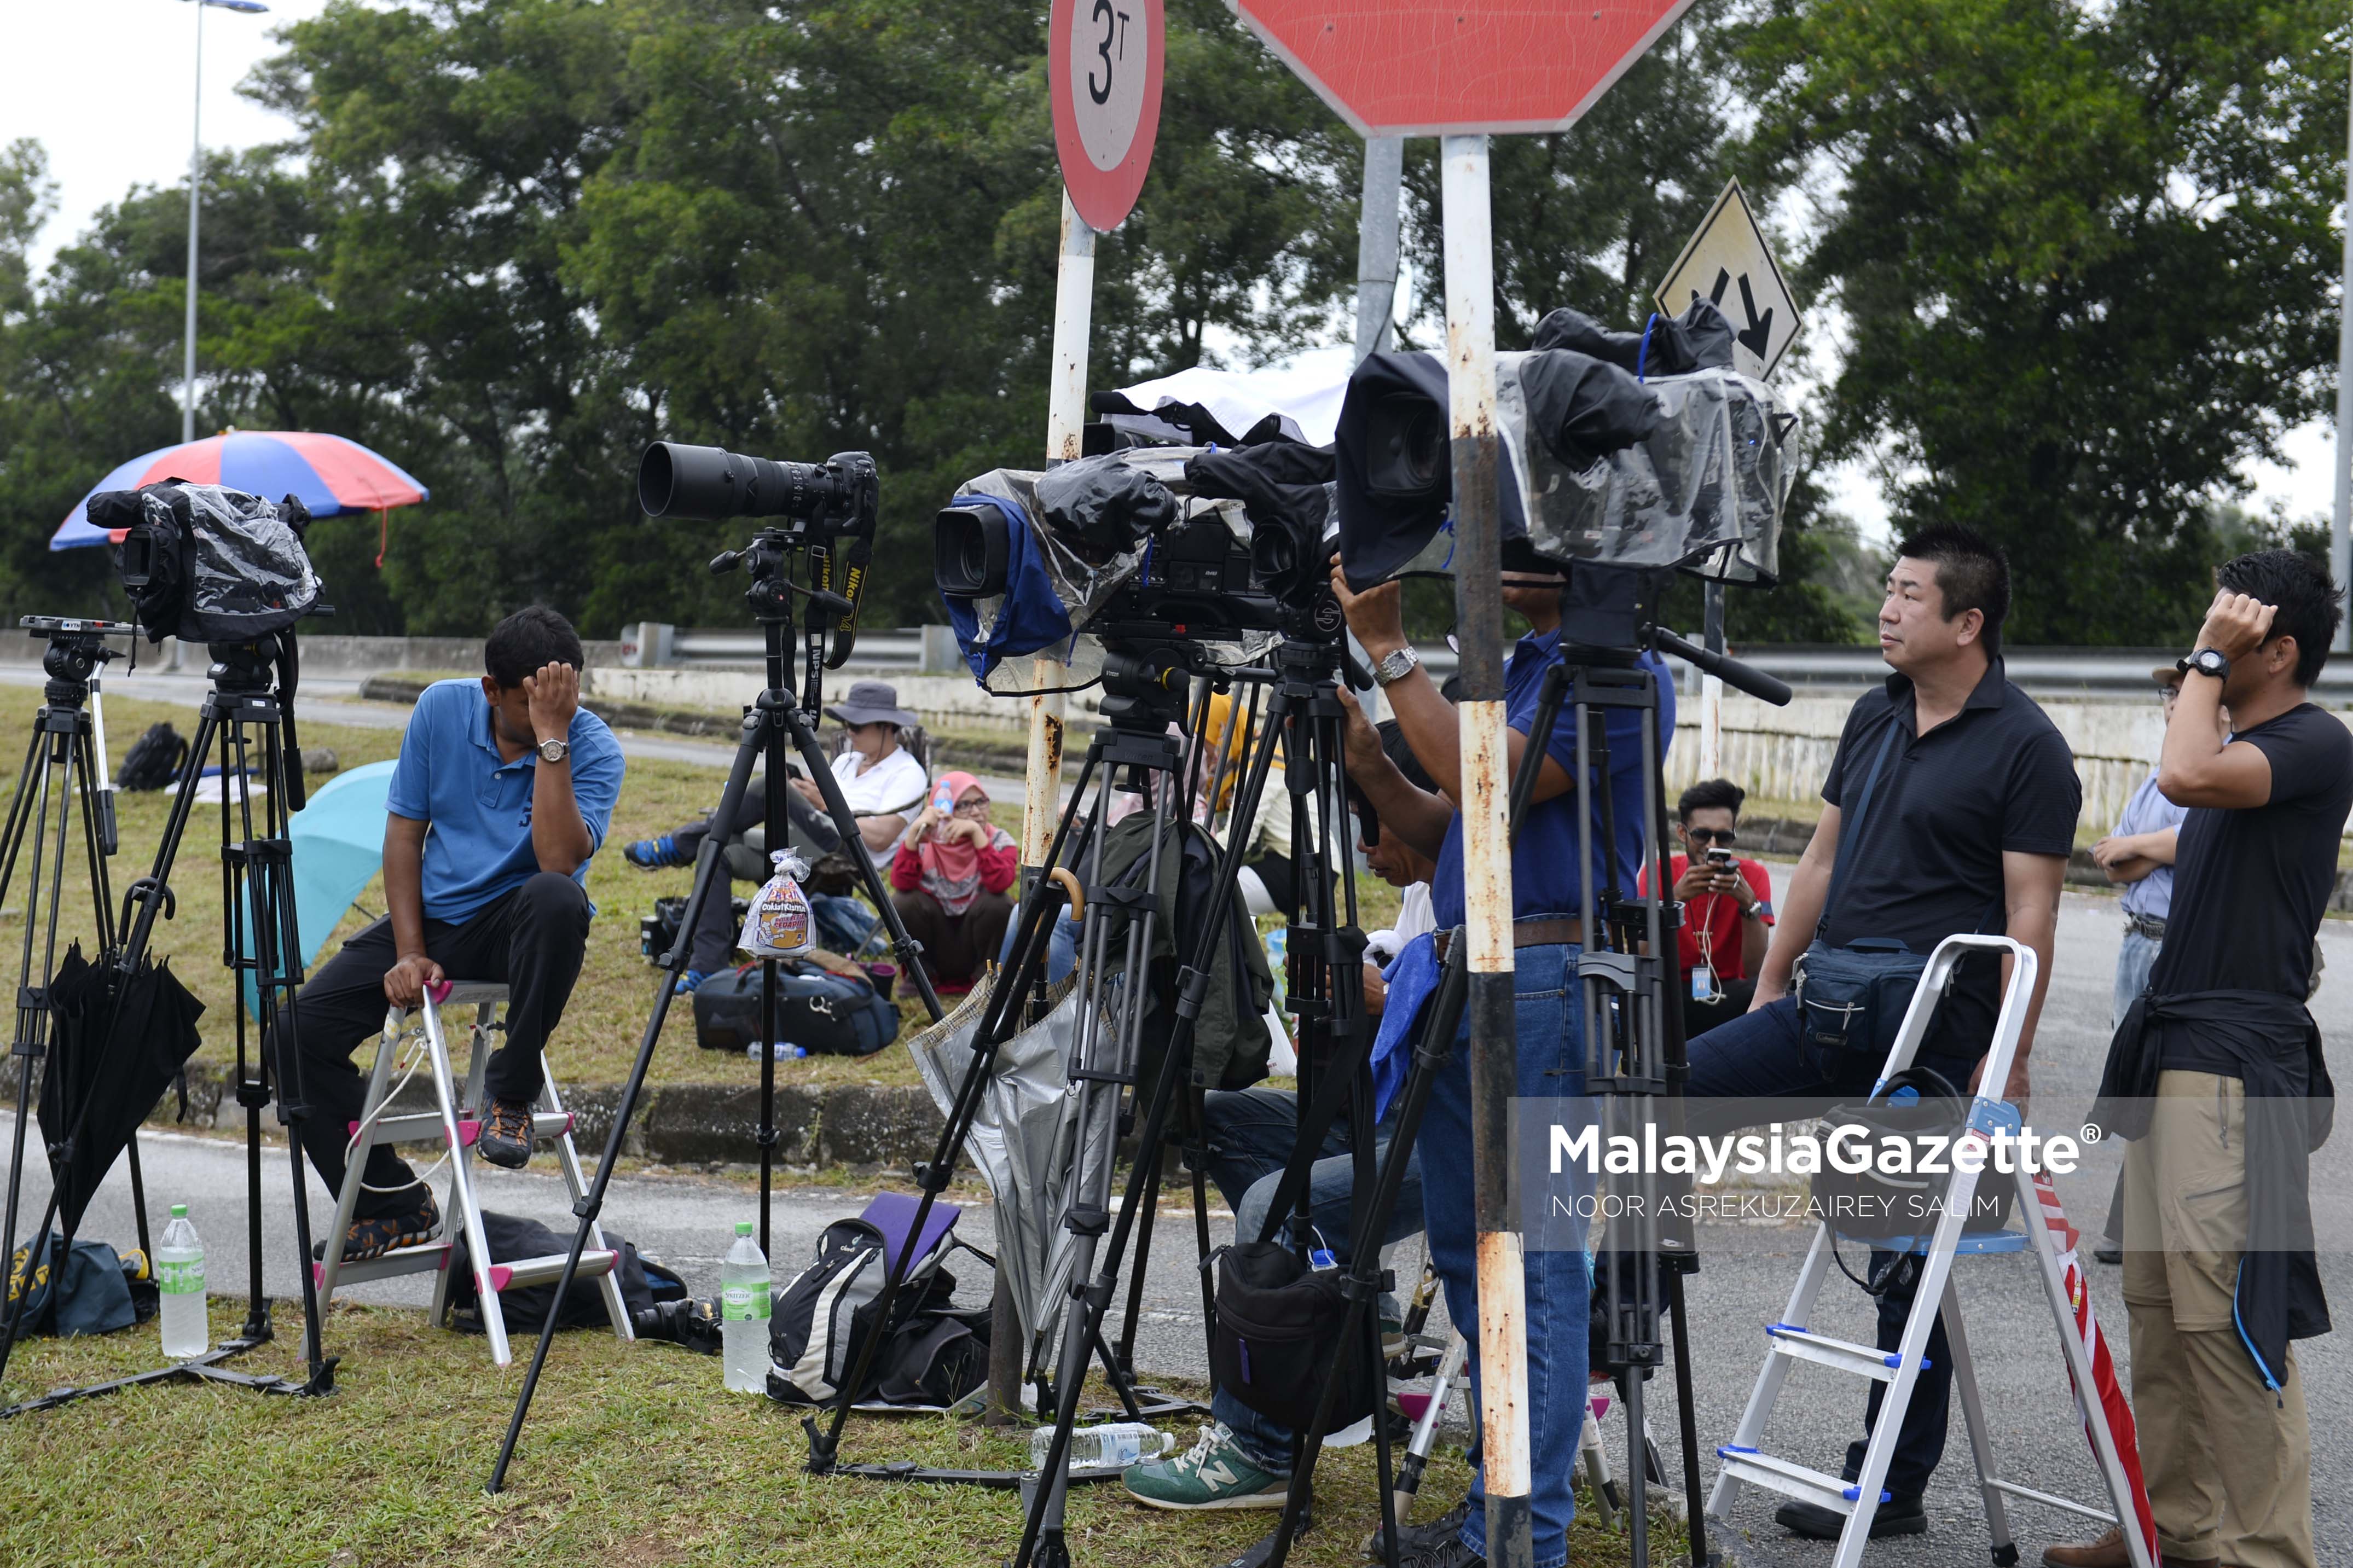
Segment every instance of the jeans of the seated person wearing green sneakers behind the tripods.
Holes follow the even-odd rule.
[[[1289,1161],[1292,1143],[1299,1135],[1299,1095],[1285,1088],[1212,1091],[1202,1098],[1202,1124],[1207,1175],[1233,1208],[1233,1234],[1238,1241],[1257,1241],[1266,1227],[1266,1211],[1275,1201],[1275,1190],[1282,1185],[1282,1166]],[[1391,1131],[1388,1121],[1374,1128],[1374,1164],[1388,1157]],[[1322,1157],[1308,1168],[1308,1206],[1315,1229],[1341,1267],[1348,1265],[1348,1199],[1355,1190],[1355,1157],[1351,1147],[1344,1110],[1325,1131]],[[1417,1150],[1405,1161],[1398,1211],[1388,1220],[1381,1246],[1402,1241],[1419,1229],[1421,1154]],[[1226,1422],[1252,1465],[1275,1474],[1292,1469],[1289,1427],[1259,1415],[1224,1387],[1209,1396],[1209,1413]]]

